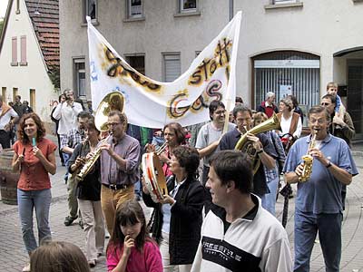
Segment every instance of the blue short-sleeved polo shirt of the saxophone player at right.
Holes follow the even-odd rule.
[[[295,171],[301,157],[309,149],[310,136],[300,138],[289,150],[284,172]],[[347,170],[352,176],[358,174],[348,144],[331,134],[321,142],[319,150],[340,169]],[[310,180],[298,183],[295,208],[302,212],[339,213],[343,211],[341,200],[342,183],[337,180],[319,160],[314,160]]]

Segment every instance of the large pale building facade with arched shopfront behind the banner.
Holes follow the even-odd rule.
[[[138,71],[170,82],[242,11],[237,93],[255,108],[292,93],[304,111],[334,81],[363,137],[363,2],[68,0],[60,2],[61,87],[90,99],[85,15]]]

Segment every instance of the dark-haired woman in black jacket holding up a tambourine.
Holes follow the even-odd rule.
[[[179,146],[172,150],[167,180],[169,194],[155,203],[146,186],[142,199],[154,208],[151,219],[152,238],[160,245],[164,272],[177,267],[180,272],[191,270],[191,264],[201,239],[201,209],[205,189],[198,180],[199,153],[196,149]]]

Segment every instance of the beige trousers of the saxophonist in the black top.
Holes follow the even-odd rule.
[[[97,254],[103,253],[104,222],[101,201],[78,199],[82,212],[83,229],[85,232],[85,257],[88,261],[97,260]]]

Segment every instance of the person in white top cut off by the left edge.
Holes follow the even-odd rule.
[[[10,148],[10,131],[18,121],[19,116],[14,109],[3,102],[0,95],[0,144],[3,149]]]

